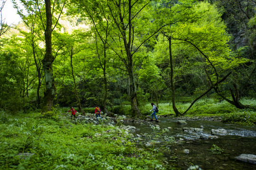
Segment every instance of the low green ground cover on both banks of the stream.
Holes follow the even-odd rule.
[[[256,100],[244,100],[255,105]],[[189,103],[178,103],[185,110]],[[115,107],[116,114],[128,115],[130,106]],[[140,107],[150,115],[150,103]],[[68,108],[9,114],[0,112],[0,169],[5,170],[150,170],[166,169],[161,155],[138,149],[131,136],[108,120],[95,125],[72,121]],[[94,108],[87,108],[90,112]],[[159,103],[158,115],[174,116],[170,103]],[[240,110],[225,101],[200,100],[186,116],[221,116],[223,122],[256,125],[254,110]],[[152,148],[153,149],[153,148]]]

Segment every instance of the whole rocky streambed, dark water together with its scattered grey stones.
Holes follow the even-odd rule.
[[[220,117],[159,117],[159,122],[107,117],[104,123],[120,126],[130,134],[138,147],[160,152],[163,163],[187,170],[256,169],[256,127],[224,124]],[[94,115],[79,116],[83,122],[94,122]],[[73,120],[73,121],[77,121]],[[197,165],[197,166],[195,166]]]

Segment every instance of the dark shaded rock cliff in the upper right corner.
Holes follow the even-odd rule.
[[[256,1],[255,0],[212,0],[222,11],[222,19],[227,32],[232,36],[230,46],[233,50],[247,46],[246,57],[255,59],[256,55]],[[241,56],[244,57],[244,56]]]

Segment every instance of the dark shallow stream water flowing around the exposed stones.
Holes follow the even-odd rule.
[[[138,146],[149,145],[158,147],[158,152],[163,154],[171,167],[187,170],[190,165],[198,165],[202,170],[256,170],[256,165],[237,161],[240,154],[256,155],[256,127],[224,124],[219,121],[186,121],[188,124],[179,125],[178,120],[160,118],[161,122],[155,121],[145,124],[123,123],[134,126],[140,130],[134,132],[134,136],[141,135],[142,142]],[[159,125],[168,128],[169,132],[152,139],[144,134],[154,134],[151,125]],[[203,127],[202,127],[203,126]],[[203,128],[201,132],[183,131],[183,127]],[[211,129],[226,129],[226,135],[211,135]],[[175,143],[166,143],[166,136],[174,136]],[[180,139],[181,138],[181,139]],[[184,139],[184,140],[182,140]],[[181,142],[180,142],[181,140]],[[179,141],[179,142],[178,142]],[[213,144],[223,149],[223,153],[215,154],[210,151]],[[189,153],[184,153],[188,149]]]

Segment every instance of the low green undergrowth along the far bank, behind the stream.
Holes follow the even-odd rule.
[[[256,99],[243,99],[241,102],[245,105],[256,107]],[[156,103],[155,103],[156,104]],[[158,115],[172,115],[175,113],[170,103],[159,103]],[[190,106],[190,103],[177,102],[176,107],[182,113]],[[150,103],[140,107],[143,115],[151,115],[149,110],[152,109]],[[188,117],[194,116],[220,116],[223,122],[236,123],[243,125],[256,125],[256,111],[248,109],[237,109],[234,105],[226,101],[218,101],[217,99],[201,99],[197,101],[190,110],[184,115]]]

